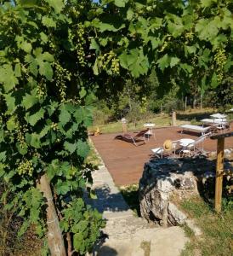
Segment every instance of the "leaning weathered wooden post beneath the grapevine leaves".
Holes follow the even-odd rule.
[[[56,209],[54,207],[53,195],[50,188],[50,184],[48,183],[48,178],[46,174],[44,174],[39,183],[37,184],[37,188],[43,192],[43,196],[47,200],[47,225],[48,225],[48,247],[50,254],[52,256],[65,256],[65,245],[62,237],[62,233],[60,230],[59,219],[57,216]]]

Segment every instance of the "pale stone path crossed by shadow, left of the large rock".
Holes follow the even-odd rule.
[[[179,256],[188,241],[180,227],[150,226],[134,215],[113,183],[105,166],[93,173],[98,199],[94,207],[103,212],[105,239],[94,248],[93,256]]]

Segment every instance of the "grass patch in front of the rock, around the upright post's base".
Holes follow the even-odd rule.
[[[233,255],[233,202],[224,201],[221,214],[213,212],[213,207],[193,198],[183,201],[181,207],[190,218],[196,221],[202,230],[202,236],[194,236],[192,230],[185,228],[185,233],[190,237],[181,256],[204,255],[225,256]]]

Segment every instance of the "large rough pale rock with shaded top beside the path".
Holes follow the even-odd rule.
[[[199,195],[198,179],[207,171],[214,173],[214,163],[202,158],[145,163],[139,182],[141,216],[165,226],[184,224],[186,216],[175,202]]]

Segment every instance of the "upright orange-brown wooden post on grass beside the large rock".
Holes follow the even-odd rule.
[[[222,208],[223,172],[224,172],[224,137],[221,137],[218,139],[218,144],[217,144],[217,164],[216,164],[215,201],[214,201],[214,207],[216,212],[221,212],[221,208]]]

